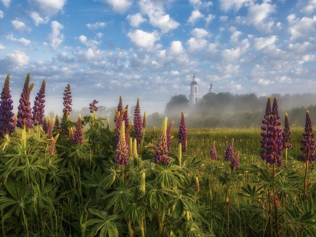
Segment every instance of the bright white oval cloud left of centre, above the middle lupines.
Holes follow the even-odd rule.
[[[127,36],[137,47],[147,50],[154,48],[155,41],[160,40],[160,36],[156,31],[149,33],[142,30],[135,30],[134,32],[129,32]]]

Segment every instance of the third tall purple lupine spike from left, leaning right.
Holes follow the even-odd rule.
[[[45,79],[42,82],[42,86],[40,88],[39,93],[37,93],[37,96],[35,97],[34,106],[33,106],[33,123],[34,125],[41,125],[43,124],[43,117],[44,117],[44,108],[45,108],[45,87],[46,82]]]

